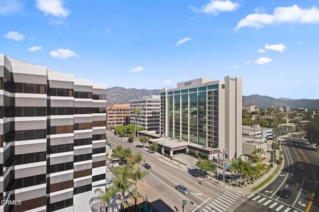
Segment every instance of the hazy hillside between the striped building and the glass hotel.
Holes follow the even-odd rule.
[[[113,87],[106,89],[106,105],[130,103],[131,100],[142,99],[150,95],[160,95],[160,90]]]

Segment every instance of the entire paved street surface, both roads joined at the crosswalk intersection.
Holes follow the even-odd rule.
[[[314,151],[309,150],[307,146],[284,142],[282,150],[285,159],[282,171],[271,184],[260,189],[257,193],[250,193],[251,188],[238,188],[229,185],[224,188],[222,183],[216,179],[203,179],[195,166],[197,159],[193,157],[183,154],[174,155],[175,159],[186,164],[183,165],[163,158],[158,153],[149,153],[148,149],[144,149],[140,142],[128,143],[125,138],[111,134],[108,138],[112,146],[121,144],[124,147],[130,146],[133,153],[142,152],[146,162],[152,166],[152,169],[149,170],[150,174],[143,183],[148,186],[144,187],[141,193],[142,195],[160,194],[161,201],[157,201],[157,207],[163,205],[171,211],[182,211],[182,200],[185,199],[188,203],[185,206],[185,212],[232,212],[239,209],[249,209],[248,211],[251,212],[299,212],[307,209],[317,212],[319,210],[318,195],[316,195],[316,187],[314,187],[316,179],[319,178],[319,167],[315,165],[318,163],[319,156]],[[300,163],[304,164],[307,171],[301,172],[298,169]],[[289,180],[292,178],[296,179],[297,185],[295,187],[289,186]],[[263,180],[258,179],[255,185]],[[177,184],[184,185],[190,194],[183,195],[177,191],[175,189]],[[286,187],[292,187],[292,195],[288,199],[280,198],[279,194]]]

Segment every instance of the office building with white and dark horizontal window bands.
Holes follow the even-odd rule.
[[[0,211],[89,211],[105,108],[105,84],[0,54]]]

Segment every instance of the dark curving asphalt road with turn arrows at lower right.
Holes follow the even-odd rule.
[[[288,139],[289,140],[289,139]],[[319,211],[319,190],[316,194],[316,182],[319,180],[319,155],[306,144],[283,142],[285,163],[279,176],[265,189],[248,196],[240,207],[251,211]],[[303,164],[305,170],[299,169]],[[290,185],[295,179],[296,186]],[[280,197],[285,188],[290,188],[292,195],[288,199]]]

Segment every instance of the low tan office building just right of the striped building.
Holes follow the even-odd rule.
[[[130,104],[109,105],[106,107],[106,128],[112,130],[115,126],[130,124],[129,117]]]

